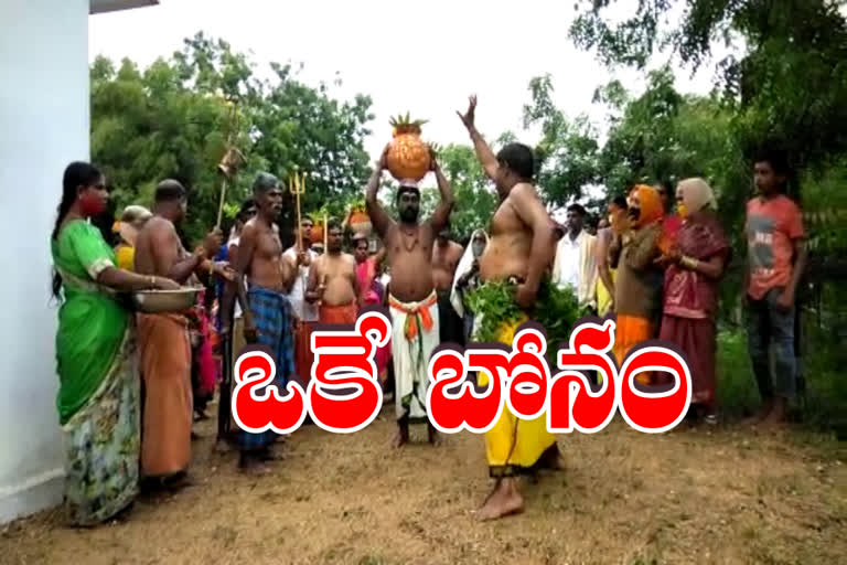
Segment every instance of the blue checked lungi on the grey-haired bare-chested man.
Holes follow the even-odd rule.
[[[272,384],[277,386],[279,394],[285,395],[288,380],[294,376],[291,305],[286,295],[257,286],[250,286],[247,302],[258,330],[258,342],[270,349],[277,364],[277,374]],[[242,430],[238,434],[238,447],[243,451],[265,449],[276,439],[277,435],[272,430],[262,434]]]

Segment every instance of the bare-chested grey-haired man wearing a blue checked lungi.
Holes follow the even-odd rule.
[[[294,375],[293,334],[290,306],[286,295],[294,281],[296,265],[282,255],[282,242],[275,223],[282,211],[282,191],[272,174],[262,172],[253,184],[256,216],[242,230],[235,270],[238,299],[244,310],[244,335],[249,343],[267,345],[277,365],[274,384],[286,394],[286,384]],[[245,290],[245,276],[249,290]],[[229,311],[227,307],[225,312]],[[229,328],[225,324],[225,328]],[[237,355],[239,352],[235,352]],[[275,459],[271,445],[277,435],[242,431],[238,447],[242,469],[267,471],[261,465]]]

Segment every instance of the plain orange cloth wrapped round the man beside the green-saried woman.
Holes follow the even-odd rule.
[[[191,461],[191,344],[187,319],[138,315],[138,343],[144,381],[141,473],[168,477]]]

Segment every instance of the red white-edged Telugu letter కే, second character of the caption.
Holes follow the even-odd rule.
[[[358,317],[353,331],[314,331],[309,413],[315,425],[336,434],[363,429],[379,414],[383,387],[374,354],[388,343],[392,326],[382,313]],[[352,390],[352,391],[351,391]],[[336,391],[336,394],[329,394]],[[343,392],[342,392],[343,391]]]

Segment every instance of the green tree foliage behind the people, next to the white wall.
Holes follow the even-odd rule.
[[[186,233],[200,236],[216,221],[216,167],[230,135],[246,162],[226,193],[229,213],[262,170],[286,186],[294,171],[307,172],[304,211],[358,194],[367,175],[371,99],[339,102],[326,85],[300,82],[290,65],[271,70],[271,78],[259,78],[244,54],[203,33],[143,71],[129,60],[116,67],[98,57],[90,68],[92,158],[109,177],[118,210],[150,205],[156,184],[175,178],[190,190]]]

